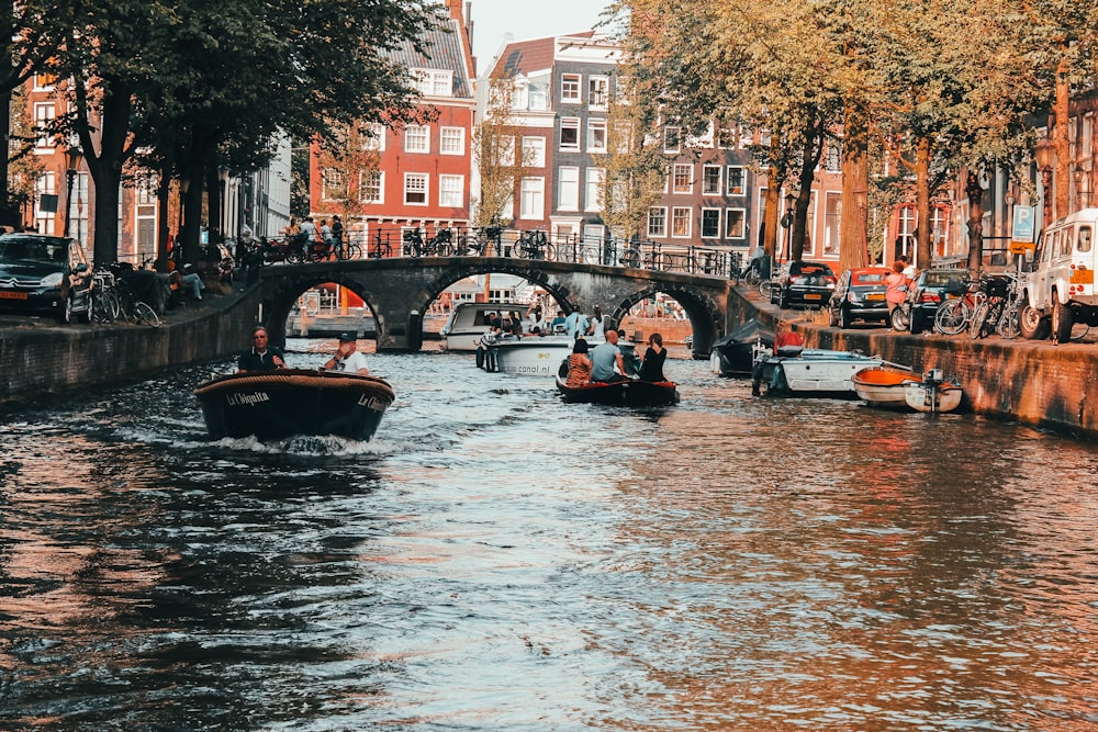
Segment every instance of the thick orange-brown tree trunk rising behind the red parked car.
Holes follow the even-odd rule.
[[[847,108],[842,143],[842,212],[839,222],[839,268],[870,263],[866,215],[870,205],[867,128],[860,109]]]

